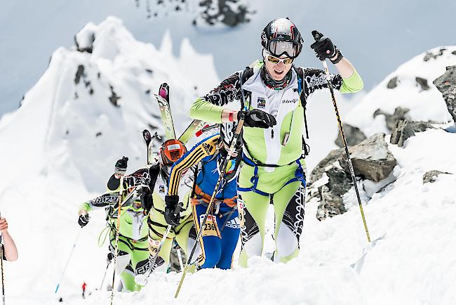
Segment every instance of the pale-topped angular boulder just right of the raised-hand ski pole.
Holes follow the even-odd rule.
[[[375,182],[386,179],[396,166],[396,158],[389,151],[384,134],[375,134],[349,148],[356,176]],[[340,165],[349,172],[347,157],[342,155]]]

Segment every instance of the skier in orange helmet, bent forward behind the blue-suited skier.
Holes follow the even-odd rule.
[[[149,189],[153,190],[152,198],[149,201],[151,209],[149,217],[147,217],[147,225],[149,227],[149,253],[151,256],[156,254],[159,248],[163,234],[166,232],[168,223],[166,219],[175,219],[173,227],[170,230],[163,246],[161,247],[159,257],[154,264],[154,271],[166,272],[170,261],[170,252],[173,247],[173,239],[185,252],[189,254],[196,240],[196,231],[192,219],[192,209],[189,208],[189,193],[193,185],[193,171],[185,171],[182,174],[182,179],[178,183],[179,202],[182,204],[180,216],[176,216],[175,209],[165,207],[165,195],[168,191],[168,180],[170,167],[173,163],[179,160],[182,155],[187,152],[185,145],[175,139],[165,141],[159,150],[158,157],[154,158],[152,165],[147,168],[139,169],[150,180]],[[112,186],[119,186],[119,177],[112,176],[110,179]],[[145,226],[146,227],[146,226]],[[146,227],[147,228],[147,227]],[[199,253],[199,248],[197,248]]]

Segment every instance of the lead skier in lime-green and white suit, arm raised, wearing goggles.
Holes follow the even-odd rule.
[[[304,106],[311,93],[328,87],[323,70],[294,67],[302,43],[288,18],[272,20],[261,33],[262,60],[232,74],[190,110],[195,119],[222,124],[225,141],[232,138],[241,110],[245,114],[238,178],[241,266],[262,253],[269,202],[275,212],[274,261],[299,254],[306,186]],[[363,88],[353,65],[329,38],[321,37],[311,48],[335,65],[339,74],[330,74],[335,89],[353,93]]]

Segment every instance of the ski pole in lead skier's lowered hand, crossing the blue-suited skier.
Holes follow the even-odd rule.
[[[238,126],[236,127],[236,131],[234,132],[234,135],[233,135],[233,138],[232,138],[232,143],[229,145],[227,157],[224,158],[223,163],[222,163],[222,167],[220,167],[221,169],[225,169],[227,167],[228,158],[234,152],[234,148],[236,146],[237,139],[239,138],[239,135],[241,134],[241,131],[242,131],[242,126],[244,124],[244,118],[245,118],[245,113],[241,112],[241,118],[239,119]],[[214,192],[212,193],[212,196],[210,197],[208,208],[206,209],[206,214],[204,215],[204,218],[201,221],[200,228],[199,228],[199,231],[198,231],[198,235],[196,235],[195,244],[193,245],[192,252],[190,252],[189,258],[187,259],[187,264],[185,264],[184,271],[182,272],[182,278],[180,278],[179,286],[177,286],[177,290],[176,290],[176,293],[174,295],[174,298],[177,298],[177,296],[179,295],[180,288],[182,287],[182,283],[184,283],[185,275],[187,274],[187,271],[189,271],[189,266],[191,265],[190,263],[192,262],[193,254],[195,253],[196,246],[198,245],[199,239],[201,238],[201,235],[203,234],[203,228],[206,225],[206,220],[208,219],[208,214],[211,211],[211,209],[213,208],[213,205],[214,205],[214,202],[215,202],[215,196],[218,193],[218,188],[220,186],[220,183],[223,180],[223,176],[224,175],[222,173],[220,173],[220,176],[218,177],[217,183],[215,184]]]

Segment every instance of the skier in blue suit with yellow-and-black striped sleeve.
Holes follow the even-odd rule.
[[[241,231],[239,216],[236,208],[236,172],[239,165],[236,155],[230,156],[226,169],[221,169],[223,160],[227,157],[227,146],[219,134],[209,136],[197,143],[189,152],[173,164],[170,171],[168,195],[165,197],[166,207],[175,209],[179,201],[179,190],[182,172],[195,164],[198,171],[192,192],[192,208],[196,231],[199,231],[201,220],[206,215],[206,209],[213,195],[215,185],[223,173],[223,181],[219,192],[215,195],[215,205],[210,211],[206,226],[200,238],[202,254],[198,259],[199,268],[232,268],[234,249]],[[240,146],[240,145],[239,145]],[[240,155],[239,155],[240,156]],[[167,219],[174,224],[177,219]]]

